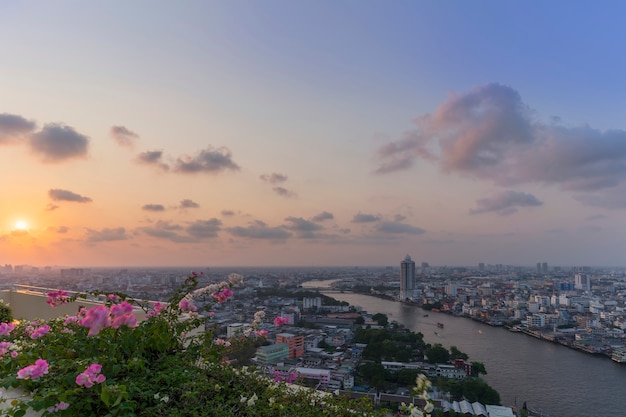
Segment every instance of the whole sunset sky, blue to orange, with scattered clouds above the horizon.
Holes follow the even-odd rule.
[[[0,2],[0,264],[624,266],[625,13]]]

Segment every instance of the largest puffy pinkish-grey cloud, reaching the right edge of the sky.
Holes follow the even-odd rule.
[[[593,191],[626,182],[626,130],[540,123],[511,87],[487,84],[448,97],[417,128],[378,150],[375,172],[431,161],[444,172],[493,181]]]

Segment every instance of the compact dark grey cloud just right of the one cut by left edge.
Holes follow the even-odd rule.
[[[62,162],[87,157],[89,138],[70,126],[50,123],[31,135],[30,148],[43,162]]]

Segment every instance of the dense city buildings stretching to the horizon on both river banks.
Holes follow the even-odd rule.
[[[216,267],[196,269],[196,273],[201,274],[201,284],[209,284],[232,270]],[[180,287],[189,271],[5,264],[0,271],[0,283],[5,290],[31,293],[58,288],[77,293],[122,291],[137,299],[159,302],[166,301]],[[300,381],[309,381],[315,389],[370,396],[376,404],[391,409],[394,403],[397,406],[411,401],[407,396],[410,387],[397,383],[385,388],[369,387],[362,371],[359,372],[360,366],[368,362],[361,356],[367,344],[355,342],[355,335],[359,328],[381,329],[391,325],[404,328],[409,323],[398,323],[391,315],[385,315],[385,322],[380,323],[377,315],[381,312],[337,302],[346,294],[365,294],[415,306],[421,313],[414,313],[414,317],[421,317],[422,321],[437,320],[436,327],[432,327],[435,337],[449,335],[442,317],[461,317],[579,351],[581,361],[586,355],[605,357],[607,364],[626,361],[625,268],[557,267],[547,262],[538,262],[536,267],[484,263],[475,267],[438,267],[428,262],[416,266],[411,256],[406,255],[396,267],[240,268],[235,272],[242,274],[245,287],[237,291],[231,302],[213,309],[215,315],[208,325],[215,329],[216,336],[229,339],[245,331],[249,326],[246,323],[253,320],[258,305],[262,304],[268,323],[274,317],[288,321],[282,329],[262,327],[269,331],[267,340],[271,343],[257,348],[249,358],[252,363],[269,376],[288,379],[294,375],[295,379],[298,375]],[[312,291],[321,292],[315,295]],[[337,299],[329,303],[326,297]],[[429,325],[432,326],[422,323],[417,330],[420,334],[430,333]],[[483,330],[478,332],[482,334]],[[450,343],[447,339],[442,342]],[[464,350],[462,342],[443,347]],[[472,357],[432,363],[425,352],[406,357],[405,361],[387,357],[379,362],[390,374],[399,370],[419,371],[433,380],[463,380],[474,375],[473,365],[477,362]],[[489,369],[488,365],[489,374],[501,372]],[[526,407],[524,388],[516,389],[519,390],[516,398],[524,399]],[[522,411],[521,403],[483,404],[455,398],[445,391],[434,391],[432,397],[444,413],[513,416]],[[531,402],[523,409],[525,415],[567,415],[559,408],[546,410],[532,406]]]

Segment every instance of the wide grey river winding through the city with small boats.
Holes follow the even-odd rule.
[[[305,287],[330,282],[313,281]],[[550,417],[626,416],[626,364],[396,301],[348,292],[327,295],[370,313],[386,314],[389,321],[423,333],[427,343],[456,346],[470,360],[484,363],[488,372],[484,379],[500,393],[503,405],[519,408],[527,401]]]

